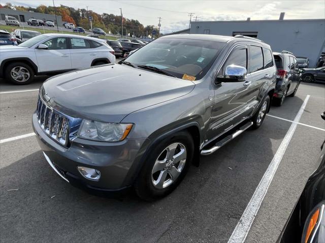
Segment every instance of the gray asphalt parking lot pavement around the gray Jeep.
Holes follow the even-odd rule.
[[[1,242],[227,242],[309,95],[246,238],[275,242],[325,139],[325,86],[302,83],[296,97],[271,108],[261,128],[201,157],[168,197],[96,197],[59,178],[34,136],[16,138],[33,132],[37,89],[46,78],[28,86],[0,79]]]

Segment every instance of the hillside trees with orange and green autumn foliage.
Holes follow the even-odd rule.
[[[6,3],[3,8],[16,9],[19,11],[34,11],[36,13],[53,14],[56,11],[57,15],[62,17],[63,22],[74,23],[75,26],[80,26],[85,29],[90,29],[88,17],[92,16],[92,27],[102,28],[105,32],[111,34],[120,34],[121,32],[121,16],[114,14],[98,14],[91,10],[75,9],[68,6],[60,5],[59,7],[40,5],[37,8],[24,7]],[[134,37],[145,37],[151,35],[152,31],[158,32],[154,25],[143,26],[138,20],[123,18],[123,34],[129,33]]]

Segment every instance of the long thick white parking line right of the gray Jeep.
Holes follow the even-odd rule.
[[[255,216],[257,215],[259,207],[261,207],[262,201],[269,189],[273,176],[276,170],[278,169],[283,154],[296,131],[298,122],[305,110],[309,97],[310,95],[307,95],[304,103],[300,107],[300,110],[298,111],[294,119],[294,122],[291,124],[289,130],[287,131],[285,137],[283,138],[280,147],[276,151],[267,171],[263,175],[262,180],[259,182],[242,217],[240,218],[239,222],[236,225],[236,228],[234,229],[232,235],[230,236],[228,243],[241,243],[245,241],[248,231],[250,230],[250,227],[255,219]]]

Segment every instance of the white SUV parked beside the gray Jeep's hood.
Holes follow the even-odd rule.
[[[74,69],[114,63],[106,39],[74,34],[41,34],[18,47],[0,46],[0,77],[26,85],[34,75],[49,75]]]

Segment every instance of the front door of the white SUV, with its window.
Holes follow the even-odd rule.
[[[48,49],[35,49],[40,72],[71,69],[70,49],[66,37],[56,37],[42,43]]]

